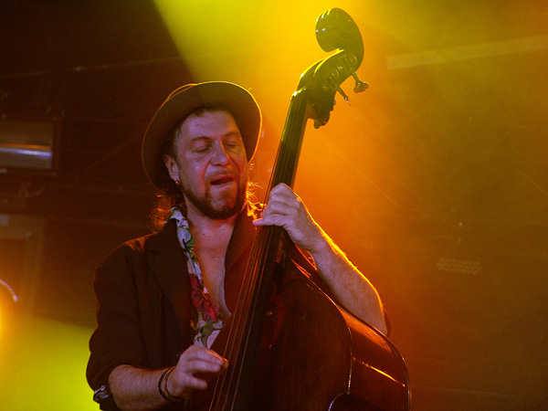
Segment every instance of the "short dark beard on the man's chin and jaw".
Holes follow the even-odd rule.
[[[237,193],[234,196],[232,193],[221,193],[220,198],[213,198],[209,188],[205,190],[205,195],[202,197],[184,184],[181,184],[181,191],[184,197],[195,206],[204,216],[214,220],[224,220],[228,217],[237,215],[246,202],[248,184],[240,184],[237,182]],[[234,197],[234,198],[231,198]]]

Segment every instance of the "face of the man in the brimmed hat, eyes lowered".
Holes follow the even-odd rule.
[[[164,156],[180,182],[189,213],[225,219],[241,211],[248,186],[248,159],[236,121],[227,111],[191,115],[174,142],[176,158]]]

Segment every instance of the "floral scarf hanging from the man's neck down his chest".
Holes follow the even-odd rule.
[[[174,219],[177,223],[177,237],[186,256],[186,265],[190,277],[191,297],[194,307],[190,326],[193,330],[194,344],[209,348],[208,339],[211,337],[211,343],[213,343],[217,334],[225,325],[225,320],[205,288],[202,271],[194,252],[195,241],[190,232],[188,220],[184,218],[181,208],[174,207],[171,209],[166,222],[171,219]]]

